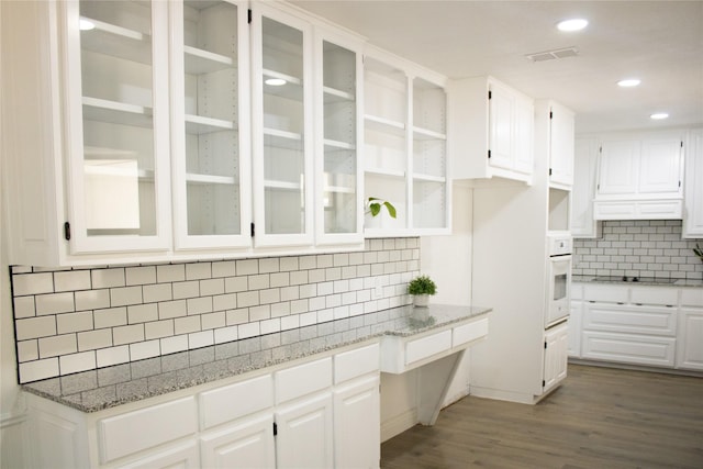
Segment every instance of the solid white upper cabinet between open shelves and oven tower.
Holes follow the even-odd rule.
[[[449,83],[454,179],[500,177],[532,183],[534,101],[492,77]]]

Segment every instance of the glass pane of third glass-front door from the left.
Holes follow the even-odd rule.
[[[301,234],[304,217],[303,33],[263,18],[265,224]]]

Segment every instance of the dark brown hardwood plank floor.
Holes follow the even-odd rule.
[[[569,365],[537,405],[467,397],[381,446],[381,468],[703,468],[703,379]]]

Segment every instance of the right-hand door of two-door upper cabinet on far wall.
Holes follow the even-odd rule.
[[[639,164],[640,194],[679,196],[681,185],[681,152],[679,134],[648,136],[641,142]]]

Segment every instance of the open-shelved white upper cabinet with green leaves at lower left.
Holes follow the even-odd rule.
[[[446,79],[372,47],[364,74],[365,200],[397,210],[395,219],[386,208],[366,213],[366,235],[448,233]]]

